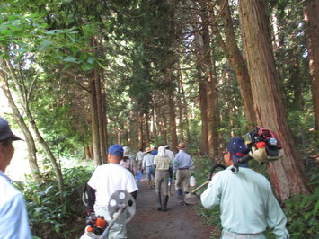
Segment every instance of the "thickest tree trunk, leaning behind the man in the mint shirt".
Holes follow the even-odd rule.
[[[293,194],[309,193],[304,165],[294,146],[280,96],[266,5],[262,0],[241,0],[239,13],[257,124],[278,133],[285,150],[282,159],[268,164],[270,179],[280,200]]]

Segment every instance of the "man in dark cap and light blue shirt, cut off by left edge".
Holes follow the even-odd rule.
[[[13,135],[8,122],[0,118],[0,238],[28,239],[31,230],[23,195],[4,175],[13,158],[15,140],[22,139]]]

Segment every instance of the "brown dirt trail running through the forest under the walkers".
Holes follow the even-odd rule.
[[[196,214],[194,205],[181,206],[176,199],[176,191],[172,185],[172,193],[168,200],[167,211],[158,211],[155,189],[150,189],[146,175],[137,182],[137,210],[135,217],[128,223],[128,239],[138,238],[213,238],[213,231],[219,231],[205,225],[203,219]]]

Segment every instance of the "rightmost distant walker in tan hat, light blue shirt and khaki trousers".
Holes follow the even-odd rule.
[[[184,197],[189,193],[190,172],[194,173],[194,167],[191,163],[191,155],[185,152],[185,144],[181,142],[177,148],[179,152],[173,161],[173,177],[176,177],[175,190],[177,190],[177,199],[180,200],[180,204],[186,206]]]

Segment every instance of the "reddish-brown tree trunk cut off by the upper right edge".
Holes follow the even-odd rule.
[[[307,49],[311,90],[313,93],[315,130],[319,130],[319,0],[306,1]]]

